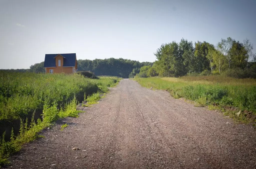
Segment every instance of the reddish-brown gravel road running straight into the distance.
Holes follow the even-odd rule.
[[[12,168],[255,168],[251,125],[124,79],[11,157]],[[60,131],[62,124],[69,124]],[[78,147],[80,150],[72,150]]]

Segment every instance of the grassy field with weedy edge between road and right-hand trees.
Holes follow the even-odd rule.
[[[256,123],[256,79],[183,76],[135,80],[147,88],[166,90],[174,98],[192,100],[196,106],[220,109],[226,115],[244,123]]]

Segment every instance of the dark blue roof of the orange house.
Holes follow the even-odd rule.
[[[75,53],[66,53],[66,54],[45,54],[45,63],[44,68],[47,67],[56,67],[55,57],[57,55],[62,55],[63,58],[63,67],[71,67],[76,65],[76,54]]]

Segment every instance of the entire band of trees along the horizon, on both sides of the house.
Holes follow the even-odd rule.
[[[253,44],[245,39],[221,39],[216,45],[206,41],[193,43],[182,38],[180,42],[162,44],[154,53],[155,62],[130,59],[78,59],[78,70],[90,70],[95,75],[134,77],[179,77],[197,75],[222,75],[236,78],[256,78],[256,54]],[[44,62],[30,69],[8,69],[18,72],[45,72]]]

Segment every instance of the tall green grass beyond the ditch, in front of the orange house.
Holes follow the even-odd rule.
[[[57,104],[97,92],[97,83],[81,75],[1,72],[0,120],[26,118],[44,103]]]

